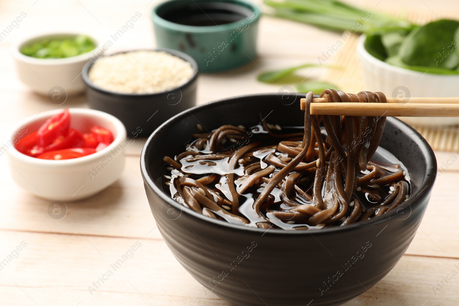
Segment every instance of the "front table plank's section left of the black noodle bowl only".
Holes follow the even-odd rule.
[[[50,305],[50,300],[52,305],[69,306],[81,300],[81,306],[127,305],[128,300],[130,305],[148,305],[141,294],[154,305],[192,305],[197,299],[218,299],[206,295],[162,239],[4,231],[0,231],[0,239],[2,260],[21,242],[26,245],[1,270],[4,305],[29,305],[31,301],[22,290],[38,305]],[[112,267],[119,259],[123,263]],[[112,275],[104,276],[108,270]],[[102,276],[108,279],[93,284]],[[221,301],[218,305],[229,304]]]

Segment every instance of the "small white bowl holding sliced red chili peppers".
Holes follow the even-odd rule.
[[[94,154],[60,161],[27,156],[16,150],[14,145],[7,150],[11,175],[16,184],[49,200],[80,200],[94,195],[113,184],[124,169],[124,148],[129,143],[123,123],[102,111],[84,108],[71,108],[69,111],[72,128],[88,133],[90,126],[100,125],[113,133],[113,142]],[[11,131],[10,139],[17,139],[18,132],[24,127],[27,129],[24,136],[37,131],[46,119],[60,112],[62,109],[45,111],[19,122]]]

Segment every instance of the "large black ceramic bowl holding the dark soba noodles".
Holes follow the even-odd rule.
[[[340,305],[364,293],[407,250],[430,198],[435,156],[419,133],[395,118],[387,118],[381,146],[407,167],[412,192],[381,217],[314,231],[265,230],[204,217],[170,198],[162,158],[182,152],[197,123],[208,130],[225,123],[250,127],[261,112],[270,123],[301,126],[299,98],[284,105],[276,94],[248,95],[194,107],[157,128],[142,151],[146,194],[168,247],[204,288],[235,305]]]

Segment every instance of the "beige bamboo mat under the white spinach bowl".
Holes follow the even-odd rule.
[[[371,8],[369,8],[371,9]],[[411,22],[424,24],[432,20],[437,20],[439,17],[448,19],[457,19],[459,11],[447,11],[442,14],[437,12],[437,15],[430,10],[412,10],[400,12],[396,10],[385,10],[393,15],[406,17]],[[362,81],[362,72],[360,63],[357,57],[357,43],[359,35],[356,33],[351,36],[341,46],[333,56],[334,64],[342,67],[341,69],[329,69],[325,74],[325,80],[332,84],[336,84],[345,92],[359,92],[364,88]],[[459,150],[459,127],[458,126],[442,126],[435,127],[432,125],[413,125],[431,145],[433,150],[440,151],[458,151]]]

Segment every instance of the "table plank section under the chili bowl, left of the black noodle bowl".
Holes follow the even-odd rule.
[[[7,169],[5,158],[0,159],[0,165]],[[31,233],[39,229],[39,232],[50,233],[160,237],[157,231],[150,233],[156,223],[146,199],[138,156],[127,157],[122,177],[101,193],[86,200],[65,202],[67,215],[61,220],[48,215],[51,200],[22,191],[11,181],[9,169],[0,178],[0,184],[2,190],[9,190],[3,192],[1,229]]]

